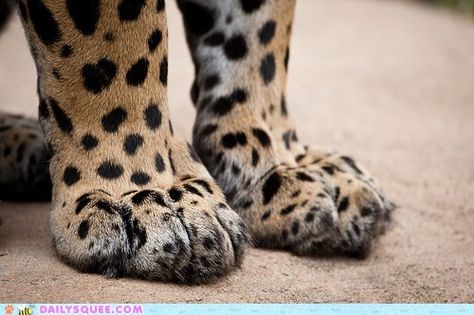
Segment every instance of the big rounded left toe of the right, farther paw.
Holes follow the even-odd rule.
[[[332,235],[336,227],[335,191],[321,172],[280,166],[253,191],[261,194],[239,213],[259,246],[305,253],[312,241]]]

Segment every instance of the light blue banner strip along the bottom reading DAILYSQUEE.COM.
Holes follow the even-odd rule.
[[[13,312],[8,313],[9,306]],[[109,313],[93,312],[107,306]],[[66,307],[69,308],[66,308]],[[75,312],[66,312],[75,306]],[[117,308],[117,306],[119,308]],[[473,304],[130,304],[141,313],[124,313],[125,304],[0,304],[0,315],[471,315]],[[25,307],[31,310],[25,312]],[[23,310],[23,311],[22,311]],[[47,311],[45,311],[47,310]],[[88,312],[82,312],[87,311]],[[116,310],[122,310],[119,313]]]

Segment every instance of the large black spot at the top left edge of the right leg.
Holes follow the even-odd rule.
[[[208,8],[190,1],[178,1],[187,31],[202,36],[214,27],[214,13]]]

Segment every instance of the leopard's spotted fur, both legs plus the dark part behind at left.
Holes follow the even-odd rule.
[[[108,276],[209,281],[240,265],[247,227],[257,246],[366,255],[393,205],[352,158],[296,136],[295,1],[178,6],[196,69],[193,146],[169,120],[163,0],[19,2],[45,138],[1,115],[1,184],[30,194],[50,159],[54,246]]]

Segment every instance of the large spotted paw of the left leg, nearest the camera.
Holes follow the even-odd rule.
[[[118,200],[104,191],[82,195],[53,216],[55,247],[88,272],[208,282],[239,266],[249,243],[240,217],[214,191],[211,182],[189,178]]]

